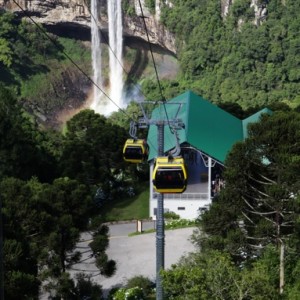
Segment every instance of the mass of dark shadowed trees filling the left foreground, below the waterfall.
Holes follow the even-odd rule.
[[[37,299],[42,282],[54,299],[100,298],[100,286],[85,275],[75,284],[68,270],[81,259],[75,246],[86,229],[93,232],[90,251],[99,273],[115,270],[105,254],[108,228],[98,216],[106,200],[129,197],[127,187],[140,177],[123,162],[126,135],[90,110],[68,121],[65,135],[41,131],[0,84],[6,299]]]

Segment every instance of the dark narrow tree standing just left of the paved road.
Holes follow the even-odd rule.
[[[92,200],[85,185],[69,178],[58,178],[45,185],[40,197],[51,205],[52,228],[43,260],[47,272],[55,278],[80,259],[79,253],[72,251],[79,241],[80,230],[87,228]]]

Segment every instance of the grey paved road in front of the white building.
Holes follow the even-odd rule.
[[[93,274],[93,280],[102,285],[105,294],[114,286],[125,284],[127,279],[143,275],[155,281],[156,273],[156,237],[155,233],[142,234],[128,237],[129,233],[136,231],[136,223],[110,225],[110,243],[107,251],[108,257],[117,263],[117,271],[111,278],[98,275],[99,272],[89,258],[83,254],[86,261],[74,268],[85,270]],[[143,230],[153,228],[154,223],[143,223]],[[193,228],[167,230],[165,232],[165,268],[178,262],[179,258],[195,250],[190,242]],[[90,236],[85,234],[79,243],[78,250],[85,251],[90,242]]]

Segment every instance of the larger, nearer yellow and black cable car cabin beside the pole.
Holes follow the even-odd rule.
[[[183,158],[158,157],[152,182],[158,193],[183,193],[187,185],[187,170]]]

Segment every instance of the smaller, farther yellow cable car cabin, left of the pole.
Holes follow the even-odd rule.
[[[128,139],[123,148],[125,161],[141,163],[148,156],[148,146],[145,140]]]

